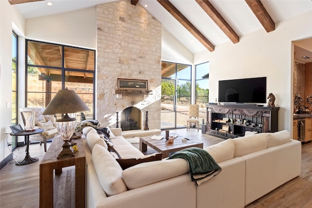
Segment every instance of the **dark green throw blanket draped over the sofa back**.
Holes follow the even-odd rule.
[[[196,181],[197,186],[208,181],[221,171],[221,167],[215,162],[214,158],[208,153],[208,151],[197,147],[178,151],[168,159],[175,158],[183,158],[187,160],[192,181]]]

